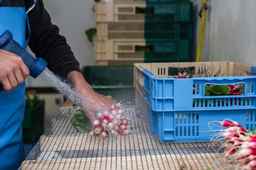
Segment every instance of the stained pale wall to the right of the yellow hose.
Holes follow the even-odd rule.
[[[255,9],[255,0],[211,0],[209,60],[256,65]]]

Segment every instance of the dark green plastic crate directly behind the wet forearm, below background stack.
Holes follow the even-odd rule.
[[[95,92],[112,96],[117,102],[133,103],[133,66],[84,66],[85,80]]]

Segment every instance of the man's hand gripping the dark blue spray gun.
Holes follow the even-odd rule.
[[[0,49],[0,82],[4,92],[9,93],[29,75],[29,69],[20,56]]]

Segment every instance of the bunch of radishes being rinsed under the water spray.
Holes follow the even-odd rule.
[[[124,116],[120,103],[114,103],[109,111],[98,113],[96,117],[90,132],[92,136],[99,135],[106,138],[109,135],[125,135],[131,132],[131,126],[128,123],[130,119]]]

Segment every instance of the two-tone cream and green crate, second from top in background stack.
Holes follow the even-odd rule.
[[[191,22],[98,22],[97,38],[110,39],[191,39]]]

